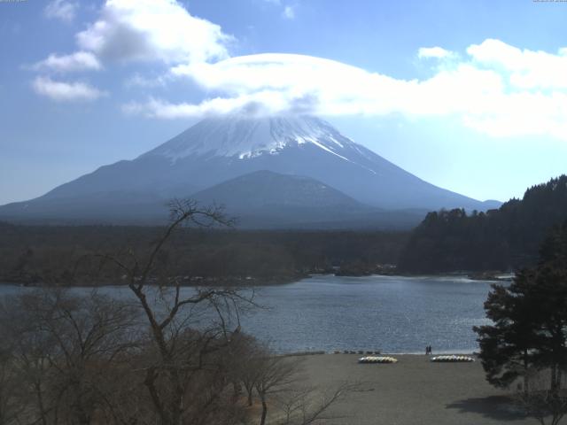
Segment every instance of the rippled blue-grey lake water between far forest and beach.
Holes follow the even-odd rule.
[[[278,352],[421,353],[426,345],[434,353],[473,352],[472,327],[489,323],[483,303],[490,284],[454,276],[314,276],[258,288],[265,308],[245,315],[242,326]],[[4,285],[0,294],[19,290]],[[129,297],[125,288],[100,291]]]

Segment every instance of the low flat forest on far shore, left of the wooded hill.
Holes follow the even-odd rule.
[[[120,284],[102,256],[144,259],[163,228],[0,223],[0,282]],[[395,263],[407,233],[180,229],[160,252],[162,276],[188,284],[290,282],[316,273],[371,274]]]

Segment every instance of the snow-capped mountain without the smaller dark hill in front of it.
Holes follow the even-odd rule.
[[[0,218],[10,213],[40,219],[42,205],[48,204],[56,216],[58,202],[60,215],[80,218],[85,208],[79,204],[89,197],[100,200],[93,204],[98,210],[128,210],[120,197],[165,202],[260,170],[315,179],[361,204],[384,210],[493,207],[424,182],[354,143],[324,120],[308,116],[223,116],[199,121],[135,159],[101,166],[43,197],[4,205]],[[133,220],[156,213],[151,208],[151,212],[144,212],[138,204],[132,203]],[[96,220],[95,215],[90,214],[89,220]]]

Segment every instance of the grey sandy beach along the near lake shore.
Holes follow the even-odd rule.
[[[363,383],[333,408],[349,425],[535,424],[509,402],[511,391],[485,382],[480,362],[433,363],[424,355],[394,355],[395,364],[359,364],[359,355],[306,356],[309,383],[330,389],[346,381]]]

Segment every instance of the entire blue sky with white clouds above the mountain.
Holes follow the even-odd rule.
[[[565,22],[533,0],[0,1],[0,205],[243,110],[521,197],[567,173]]]

